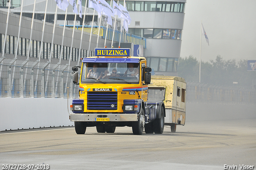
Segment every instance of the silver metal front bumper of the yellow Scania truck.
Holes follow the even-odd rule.
[[[109,118],[110,122],[130,122],[138,121],[138,114],[70,114],[70,121],[74,122],[96,122],[95,118]]]

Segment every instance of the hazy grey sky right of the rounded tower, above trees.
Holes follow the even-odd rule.
[[[202,61],[256,60],[256,0],[187,0],[180,57],[199,60],[201,20]]]

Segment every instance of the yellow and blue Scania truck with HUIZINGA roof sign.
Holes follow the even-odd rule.
[[[146,58],[130,56],[129,48],[95,48],[94,57],[83,58],[80,77],[78,66],[72,70],[79,84],[79,99],[70,105],[77,134],[92,126],[98,133],[114,133],[117,126],[132,127],[133,134],[163,133],[165,100],[148,100]]]

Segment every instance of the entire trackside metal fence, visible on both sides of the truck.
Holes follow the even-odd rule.
[[[72,66],[0,58],[0,97],[78,98]],[[256,90],[187,82],[189,103],[256,104]]]

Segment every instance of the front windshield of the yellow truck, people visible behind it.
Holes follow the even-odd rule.
[[[139,63],[83,63],[82,83],[137,84]]]

